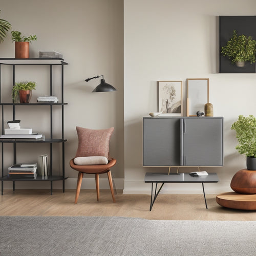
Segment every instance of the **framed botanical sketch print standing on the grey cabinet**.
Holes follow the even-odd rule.
[[[182,116],[182,81],[158,81],[158,111],[167,116]]]

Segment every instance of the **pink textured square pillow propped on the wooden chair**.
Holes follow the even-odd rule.
[[[78,148],[76,157],[102,156],[110,160],[109,144],[114,127],[92,130],[76,126]]]

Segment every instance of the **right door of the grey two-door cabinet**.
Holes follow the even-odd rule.
[[[186,166],[222,166],[223,118],[184,118],[183,154]]]

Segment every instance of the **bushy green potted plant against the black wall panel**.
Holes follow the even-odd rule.
[[[243,67],[245,61],[254,63],[256,61],[256,41],[251,36],[239,35],[233,30],[233,36],[227,41],[227,45],[221,48],[221,54],[229,57],[232,64]]]

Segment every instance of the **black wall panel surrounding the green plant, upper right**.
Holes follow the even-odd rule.
[[[246,61],[244,67],[237,67],[227,56],[221,54],[221,48],[232,37],[233,30],[238,35],[252,36],[256,40],[256,16],[219,16],[219,72],[220,73],[255,73],[255,63]]]

